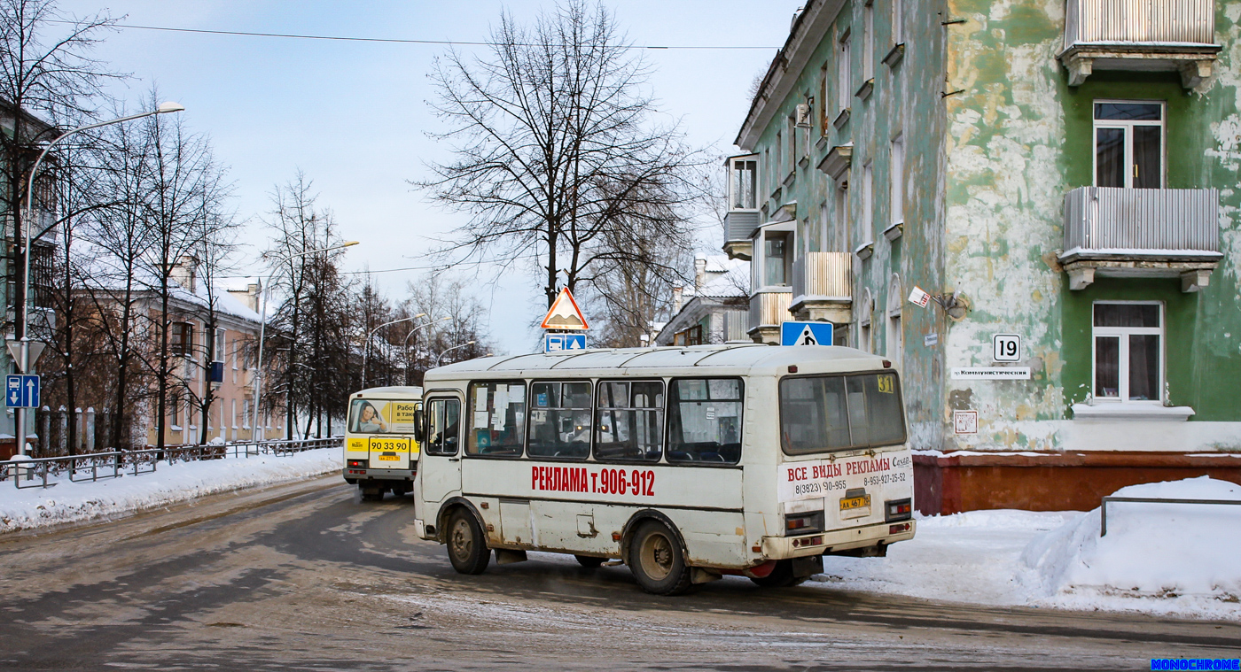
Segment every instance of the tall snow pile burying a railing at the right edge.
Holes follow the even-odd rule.
[[[1241,501],[1241,486],[1201,476],[1114,496]],[[1031,541],[1021,563],[1033,570],[1033,596],[1069,608],[1103,599],[1147,611],[1239,611],[1241,506],[1113,502],[1107,536],[1098,533],[1096,508]]]

